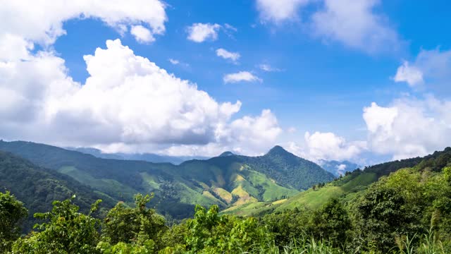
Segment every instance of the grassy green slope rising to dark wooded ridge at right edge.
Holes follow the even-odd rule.
[[[371,183],[375,183],[382,176],[388,176],[399,169],[418,167],[426,171],[440,171],[447,165],[451,165],[451,147],[425,157],[385,162],[365,167],[364,170],[355,169],[340,179],[335,179],[335,181],[331,181],[324,186],[309,188],[307,191],[297,193],[297,195],[292,197],[272,202],[254,202],[252,204],[230,207],[223,210],[223,213],[251,216],[292,210],[296,207],[316,210],[328,202],[330,198],[341,198],[342,200],[350,201],[357,194],[368,188]]]

